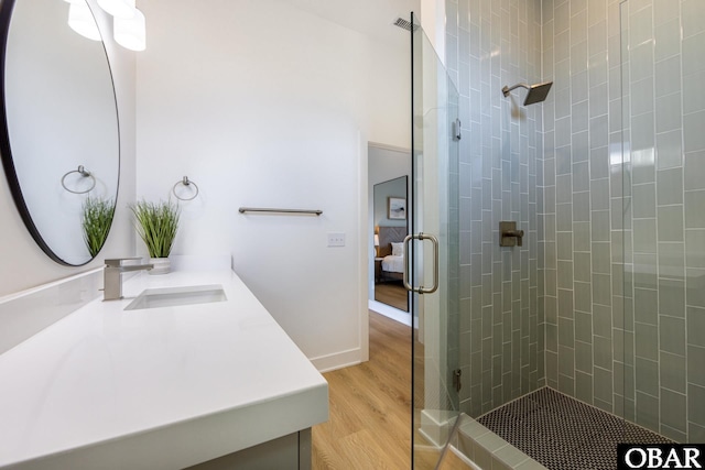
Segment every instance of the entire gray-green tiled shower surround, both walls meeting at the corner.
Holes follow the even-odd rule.
[[[468,107],[462,409],[547,384],[705,440],[705,1],[446,10],[446,65]],[[544,79],[543,105],[500,91]],[[506,219],[524,247],[498,247]]]

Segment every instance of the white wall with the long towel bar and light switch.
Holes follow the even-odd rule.
[[[138,58],[138,197],[166,198],[188,175],[200,195],[182,205],[175,254],[231,253],[319,369],[365,360],[367,141],[409,145],[408,50],[285,1],[139,7],[150,37]],[[345,232],[346,247],[327,248],[328,232]]]

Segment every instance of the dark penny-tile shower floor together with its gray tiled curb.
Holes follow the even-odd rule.
[[[617,444],[673,442],[549,387],[517,398],[477,420],[464,418],[467,422],[459,428],[458,447],[465,453],[474,453],[468,457],[476,463],[480,464],[478,460],[488,456],[492,460],[502,453],[509,457],[508,450],[529,459],[513,466],[502,458],[505,467],[499,468],[612,470],[617,468]]]

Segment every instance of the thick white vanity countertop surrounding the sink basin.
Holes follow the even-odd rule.
[[[228,300],[123,310],[209,284]],[[234,272],[141,273],[123,294],[0,354],[0,468],[177,469],[328,418],[325,379]]]

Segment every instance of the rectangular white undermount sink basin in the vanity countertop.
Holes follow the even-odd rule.
[[[148,288],[138,295],[124,309],[140,310],[143,308],[176,307],[181,305],[210,304],[227,299],[223,286],[218,284]]]

